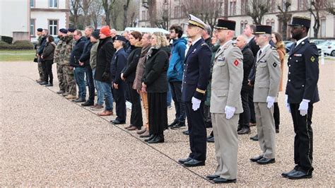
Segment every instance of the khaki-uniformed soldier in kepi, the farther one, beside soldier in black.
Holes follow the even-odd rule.
[[[254,81],[254,110],[261,155],[250,158],[252,162],[266,165],[275,162],[276,131],[274,127],[274,102],[281,80],[281,61],[276,48],[271,47],[271,26],[257,25],[255,40],[257,52],[256,76]]]

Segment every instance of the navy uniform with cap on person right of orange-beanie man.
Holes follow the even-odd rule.
[[[115,40],[121,40],[123,42],[126,39],[123,36],[117,35],[114,37]],[[120,123],[126,122],[127,110],[126,110],[126,99],[124,98],[125,86],[124,81],[121,79],[121,72],[126,66],[127,63],[127,55],[124,51],[124,48],[119,49],[117,52],[114,53],[112,57],[112,61],[110,62],[110,74],[112,78],[112,83],[118,84],[117,89],[112,89],[113,97],[115,100],[115,108],[117,112],[117,120]]]

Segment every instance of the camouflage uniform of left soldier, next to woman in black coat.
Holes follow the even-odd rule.
[[[54,49],[54,62],[57,65],[57,77],[59,81],[59,90],[66,91],[66,80],[63,73],[63,66],[61,65],[60,61],[60,52],[61,52],[61,46],[63,45],[63,42],[65,40],[65,37],[59,37],[59,42],[57,44],[56,49]]]

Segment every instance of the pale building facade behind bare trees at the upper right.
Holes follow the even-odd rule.
[[[201,0],[194,0],[198,2]],[[205,1],[205,0],[203,0]],[[213,0],[215,1],[215,0]],[[243,29],[247,24],[254,24],[252,18],[247,16],[247,8],[250,6],[252,0],[219,0],[222,6],[222,11],[219,17],[228,18],[230,20],[236,21],[236,35],[243,33]],[[287,0],[269,0],[269,12],[266,13],[261,20],[263,25],[271,25],[272,30],[278,33],[282,33],[283,23],[278,16],[280,16],[280,11],[278,6],[283,7]],[[291,18],[293,16],[306,16],[311,18],[311,28],[309,35],[314,37],[314,30],[312,26],[315,23],[315,19],[312,13],[308,11],[311,7],[311,0],[297,0],[290,1],[291,6],[288,8]],[[151,16],[149,16],[148,1],[143,0],[139,3],[139,27],[157,27],[157,25],[151,24]],[[182,0],[156,0],[155,7],[153,7],[156,15],[156,19],[162,18],[163,14],[168,18],[169,25],[179,24],[185,27],[187,23],[188,15],[185,9],[185,1]],[[197,6],[196,4],[194,6]],[[213,8],[214,9],[214,8]],[[320,28],[318,37],[319,38],[334,38],[335,37],[335,16],[328,13],[327,11],[320,11]],[[289,28],[287,30],[288,36],[290,36]]]

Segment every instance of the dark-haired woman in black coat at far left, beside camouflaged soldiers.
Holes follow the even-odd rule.
[[[41,54],[43,59],[43,64],[45,65],[44,75],[45,82],[40,83],[45,86],[54,86],[52,80],[54,76],[52,75],[52,64],[54,64],[54,49],[56,49],[56,44],[54,44],[54,37],[52,35],[47,36],[47,42],[45,42],[45,48]]]

